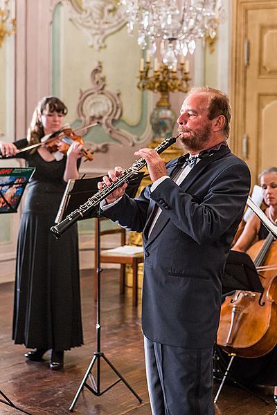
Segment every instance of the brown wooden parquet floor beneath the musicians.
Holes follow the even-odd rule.
[[[29,362],[26,349],[11,340],[13,284],[0,285],[0,390],[21,409],[32,415],[70,414],[69,407],[96,351],[96,306],[93,302],[92,271],[82,273],[82,318],[84,346],[66,352],[62,371],[48,368],[44,362]],[[101,351],[141,396],[139,404],[123,382],[102,396],[84,388],[74,408],[76,415],[150,415],[145,381],[143,338],[140,325],[140,302],[132,307],[132,290],[118,295],[118,271],[104,270],[101,277]],[[100,380],[100,391],[117,380],[114,371],[100,358],[100,376],[93,366],[93,378]],[[90,384],[90,381],[87,381]],[[215,385],[215,389],[218,385]],[[234,385],[224,385],[216,405],[217,415],[274,415],[271,388],[256,391],[270,401],[265,405]],[[2,396],[0,398],[3,399]],[[0,414],[22,414],[0,402]],[[179,415],[179,414],[174,414]],[[193,414],[192,414],[193,415]]]

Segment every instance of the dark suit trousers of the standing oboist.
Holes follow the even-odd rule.
[[[144,337],[152,415],[215,415],[213,348],[188,349]]]

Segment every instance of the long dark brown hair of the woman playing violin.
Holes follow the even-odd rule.
[[[29,144],[36,144],[37,142],[40,142],[42,137],[45,135],[44,127],[42,126],[41,121],[42,113],[53,113],[55,111],[57,113],[64,114],[64,116],[66,116],[68,111],[64,103],[59,100],[59,98],[48,96],[42,98],[42,100],[37,103],[37,107],[35,107],[30,127],[27,132],[27,140]]]

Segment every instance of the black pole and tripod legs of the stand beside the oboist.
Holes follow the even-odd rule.
[[[80,386],[78,388],[77,393],[75,394],[75,397],[73,398],[73,401],[71,403],[71,406],[69,407],[70,412],[73,412],[75,404],[80,396],[80,393],[82,392],[82,389],[84,389],[84,387],[87,387],[87,389],[89,389],[89,391],[91,391],[94,395],[96,396],[101,396],[103,394],[105,394],[105,392],[107,392],[109,389],[111,389],[111,387],[114,387],[118,382],[120,382],[120,380],[123,381],[123,383],[125,383],[125,385],[127,386],[127,388],[132,392],[132,394],[134,394],[134,396],[136,396],[136,398],[139,400],[139,403],[142,403],[142,399],[139,397],[138,394],[136,394],[136,392],[134,391],[134,389],[129,385],[129,383],[127,382],[127,380],[125,380],[125,378],[123,378],[123,376],[119,373],[119,371],[114,367],[114,365],[111,364],[111,362],[109,361],[108,358],[106,358],[105,354],[101,352],[101,347],[100,347],[100,340],[101,340],[101,336],[100,336],[100,330],[101,330],[101,324],[100,324],[100,274],[102,272],[102,269],[100,268],[100,219],[99,219],[99,215],[97,214],[96,216],[97,222],[98,222],[98,226],[97,226],[97,232],[98,234],[96,235],[97,237],[97,257],[96,257],[96,261],[97,264],[94,264],[94,266],[96,267],[96,275],[97,275],[97,295],[96,295],[96,352],[94,352],[94,356],[89,364],[89,367],[87,368],[87,371],[84,375],[84,378],[82,379],[82,382],[80,383]],[[103,358],[105,360],[105,362],[107,363],[107,365],[109,365],[109,367],[111,367],[111,369],[116,373],[116,375],[118,376],[118,379],[112,383],[111,385],[109,385],[109,387],[106,387],[104,390],[100,390],[100,377],[101,377],[101,373],[100,373],[100,359]],[[91,369],[93,368],[93,365],[96,363],[97,367],[96,367],[96,380],[94,380],[92,374],[91,374]],[[89,380],[91,381],[91,386],[87,384],[87,378],[89,378]]]

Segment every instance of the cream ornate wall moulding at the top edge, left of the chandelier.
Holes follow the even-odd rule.
[[[88,37],[89,46],[105,48],[105,39],[126,24],[116,1],[112,0],[61,0],[69,11],[69,19]]]

